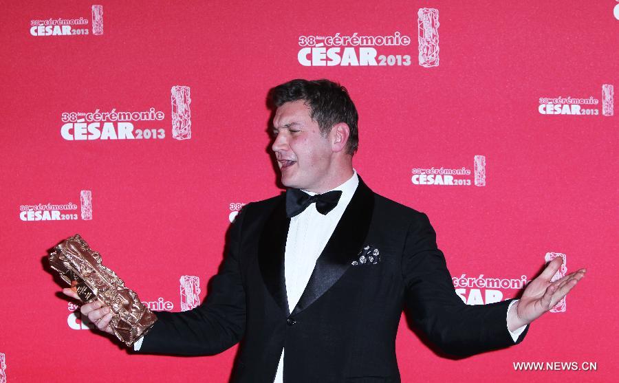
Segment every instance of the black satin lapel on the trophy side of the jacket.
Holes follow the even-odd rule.
[[[268,291],[286,316],[289,316],[284,254],[290,218],[286,217],[285,201],[285,198],[280,199],[265,223],[258,245],[258,263]]]

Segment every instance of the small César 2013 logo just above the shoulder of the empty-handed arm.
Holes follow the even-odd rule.
[[[486,186],[486,156],[475,155],[473,159],[473,185]],[[415,185],[470,186],[472,173],[469,168],[413,168],[411,181]]]

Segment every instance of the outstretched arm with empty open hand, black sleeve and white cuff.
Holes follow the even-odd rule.
[[[500,349],[521,342],[524,334],[514,340],[510,331],[550,310],[585,274],[578,270],[550,283],[560,265],[561,261],[552,261],[513,305],[512,299],[465,305],[455,294],[435,231],[420,214],[411,222],[402,259],[405,302],[415,323],[446,353],[467,356]]]

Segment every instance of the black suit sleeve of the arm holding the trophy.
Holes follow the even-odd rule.
[[[232,223],[228,250],[202,305],[190,311],[158,311],[157,322],[144,336],[140,353],[214,355],[239,342],[245,332],[245,289],[239,248],[247,206]]]

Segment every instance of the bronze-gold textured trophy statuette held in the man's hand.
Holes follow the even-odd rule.
[[[76,290],[84,303],[100,300],[113,317],[110,327],[127,346],[144,336],[157,317],[133,290],[124,287],[116,273],[101,264],[101,256],[75,234],[57,245],[50,253],[50,265],[63,281]]]

